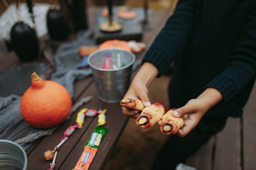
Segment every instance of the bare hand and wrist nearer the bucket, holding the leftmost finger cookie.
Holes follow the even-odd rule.
[[[145,62],[135,75],[131,86],[124,95],[123,99],[140,99],[145,107],[150,106],[151,103],[147,96],[147,87],[151,84],[157,75],[158,69],[156,66],[150,62]],[[138,110],[131,110],[125,107],[122,107],[122,111],[124,115],[131,116],[132,118],[137,118],[140,114]]]

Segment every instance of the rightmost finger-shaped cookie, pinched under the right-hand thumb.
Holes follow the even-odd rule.
[[[184,126],[184,120],[182,117],[173,116],[174,110],[175,109],[170,109],[162,116],[160,131],[163,134],[174,135],[180,128]]]

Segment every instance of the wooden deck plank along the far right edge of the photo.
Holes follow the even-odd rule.
[[[243,169],[256,169],[256,83],[243,114]]]

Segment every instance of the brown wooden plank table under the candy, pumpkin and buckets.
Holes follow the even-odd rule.
[[[89,9],[90,26],[93,26],[95,13],[99,9]],[[152,43],[155,35],[163,27],[165,20],[169,16],[169,11],[155,11],[150,17],[150,24],[152,29],[145,30],[143,32],[143,42],[147,44],[147,47]],[[159,19],[161,18],[161,19]],[[11,53],[9,57],[0,58],[0,70],[5,68],[19,65],[19,61],[14,53]],[[103,138],[99,150],[92,162],[90,169],[102,169],[113,148],[115,147],[118,138],[120,137],[123,128],[125,127],[129,117],[124,116],[121,111],[121,107],[118,103],[110,104],[104,103],[97,98],[97,89],[93,81],[92,76],[83,80],[76,81],[74,83],[74,98],[73,104],[76,104],[84,96],[93,96],[93,99],[88,104],[81,106],[77,112],[87,107],[89,109],[107,109],[106,112],[106,124],[104,127],[108,127],[109,130]],[[51,135],[40,138],[35,141],[32,146],[26,150],[28,156],[27,169],[48,169],[50,161],[44,159],[44,152],[52,150],[55,145],[59,143],[59,139],[63,135],[63,132],[69,127],[75,124],[76,113],[72,114],[66,122],[62,123],[58,129],[56,129]],[[97,125],[97,117],[86,117],[81,129],[77,129],[69,139],[61,145],[58,149],[58,155],[56,158],[56,165],[54,169],[72,169],[78,158],[80,157],[83,146],[91,136],[94,128]]]

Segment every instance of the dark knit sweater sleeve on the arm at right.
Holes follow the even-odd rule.
[[[255,81],[256,7],[252,8],[226,68],[206,86],[218,89],[224,102],[232,99],[248,82]]]

